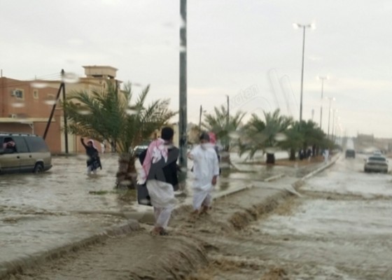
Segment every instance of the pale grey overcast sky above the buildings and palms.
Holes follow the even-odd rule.
[[[110,65],[179,109],[179,0],[0,0],[0,69],[28,80]],[[392,1],[188,0],[188,120],[225,104],[300,116],[325,133],[392,138]],[[321,102],[324,97],[335,101]],[[141,87],[134,87],[134,91]],[[332,109],[328,118],[329,104]],[[333,111],[335,110],[335,111]]]

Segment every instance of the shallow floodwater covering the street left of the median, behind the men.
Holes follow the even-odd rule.
[[[233,155],[236,165],[241,161]],[[97,176],[87,176],[81,155],[53,158],[52,164],[49,172],[40,175],[0,176],[0,262],[62,246],[125,221],[106,212],[151,211],[137,204],[134,191],[127,192],[124,200],[125,191],[114,190],[116,155],[102,156],[104,169]],[[223,172],[215,193],[244,188],[282,170],[258,166],[252,172],[244,165],[237,172]],[[190,173],[188,185],[191,181]],[[190,201],[190,188],[185,194],[179,193],[179,202]]]

